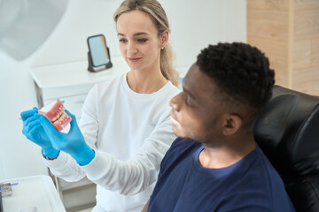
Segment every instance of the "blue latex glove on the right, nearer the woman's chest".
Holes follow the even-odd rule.
[[[45,117],[40,117],[41,125],[51,140],[53,148],[71,155],[80,165],[87,165],[93,160],[95,152],[85,142],[80,128],[76,124],[75,116],[68,110],[66,113],[72,117],[71,129],[68,133],[59,133]]]

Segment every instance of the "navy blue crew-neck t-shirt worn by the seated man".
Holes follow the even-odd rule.
[[[174,141],[160,165],[148,211],[294,211],[261,148],[222,169],[200,165],[203,148],[192,140]]]

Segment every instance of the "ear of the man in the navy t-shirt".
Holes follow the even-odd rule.
[[[225,114],[222,117],[222,133],[224,135],[232,135],[236,133],[241,125],[242,120],[236,114]]]

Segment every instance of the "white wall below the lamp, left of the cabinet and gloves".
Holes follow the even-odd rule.
[[[47,173],[40,149],[25,139],[19,120],[21,111],[36,105],[29,66],[0,51],[0,179]]]

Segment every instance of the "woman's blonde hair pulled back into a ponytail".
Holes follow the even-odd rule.
[[[166,12],[157,0],[125,0],[114,12],[114,21],[117,22],[121,14],[128,11],[143,11],[148,14],[157,28],[159,36],[166,30],[168,33],[170,32]],[[167,43],[165,48],[160,50],[160,72],[173,85],[178,86],[179,74],[174,68],[174,59],[173,49]]]

